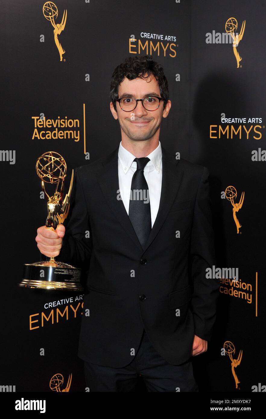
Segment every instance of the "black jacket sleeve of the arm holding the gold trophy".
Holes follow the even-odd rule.
[[[75,268],[88,269],[92,252],[92,237],[88,209],[78,168],[74,170],[70,209],[62,248],[56,261],[65,262]],[[67,220],[66,220],[67,221]],[[41,260],[49,260],[40,253]]]

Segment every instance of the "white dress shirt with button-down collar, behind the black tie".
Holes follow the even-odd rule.
[[[160,141],[158,147],[146,157],[148,157],[150,161],[148,161],[144,168],[144,177],[149,188],[150,212],[153,226],[159,209],[162,189],[163,162]],[[137,170],[137,162],[133,161],[135,158],[136,156],[122,146],[121,141],[118,150],[119,190],[127,215],[129,213],[132,177]]]

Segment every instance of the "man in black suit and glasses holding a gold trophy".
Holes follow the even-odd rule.
[[[116,67],[110,97],[120,145],[75,169],[67,228],[38,228],[37,246],[88,269],[78,356],[90,391],[134,391],[137,375],[148,391],[199,391],[191,356],[207,350],[219,288],[206,278],[209,172],[160,144],[171,102],[152,57]]]

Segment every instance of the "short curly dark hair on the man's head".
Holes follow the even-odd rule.
[[[147,76],[144,75],[147,73]],[[153,74],[158,81],[160,88],[160,95],[164,98],[163,109],[169,99],[168,82],[163,72],[163,66],[152,59],[151,55],[145,55],[140,57],[136,55],[134,57],[128,57],[118,65],[112,75],[111,86],[110,86],[110,99],[116,110],[116,101],[118,99],[118,87],[119,84],[127,77],[129,80],[135,78],[148,78],[150,74]]]

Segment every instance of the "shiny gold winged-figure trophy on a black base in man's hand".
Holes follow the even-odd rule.
[[[48,216],[45,225],[47,228],[56,230],[57,225],[65,221],[69,212],[74,171],[72,170],[69,191],[64,200],[64,181],[67,173],[64,158],[54,151],[48,151],[38,158],[36,172],[41,179],[41,188],[47,200]],[[56,184],[56,189],[51,197],[46,192],[44,183]],[[80,276],[80,268],[57,262],[52,256],[49,261],[24,264],[23,280],[18,285],[46,290],[78,291],[83,289],[80,284]]]

